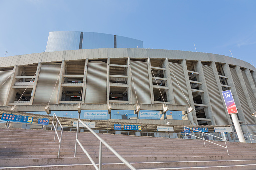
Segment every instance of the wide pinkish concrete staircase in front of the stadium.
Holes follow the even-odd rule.
[[[0,169],[94,169],[78,146],[76,132],[63,132],[60,158],[54,132],[33,129],[0,129]],[[99,134],[137,169],[256,169],[256,144],[227,142],[227,150],[202,140]],[[79,133],[79,140],[96,163],[99,140]],[[224,142],[216,142],[225,146]],[[103,169],[128,169],[103,146]]]

